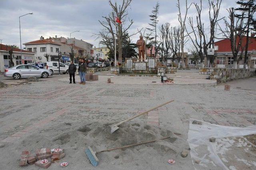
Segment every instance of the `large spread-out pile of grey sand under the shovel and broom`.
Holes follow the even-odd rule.
[[[28,136],[22,140],[22,147],[18,147],[16,150],[26,148],[33,152],[42,147],[63,148],[66,153],[63,161],[72,165],[70,169],[79,169],[84,166],[91,168],[92,165],[85,154],[85,149],[88,146],[94,151],[100,151],[170,136],[168,139],[157,142],[97,154],[100,160],[98,167],[104,170],[113,169],[112,166],[115,166],[114,169],[122,169],[123,166],[132,166],[136,169],[136,167],[141,166],[142,168],[148,163],[151,166],[161,165],[158,168],[166,168],[169,166],[167,160],[179,155],[181,147],[180,134],[174,134],[159,126],[134,122],[122,124],[113,134],[110,133],[110,124],[63,122],[44,129],[43,134]],[[110,164],[110,162],[112,163]]]

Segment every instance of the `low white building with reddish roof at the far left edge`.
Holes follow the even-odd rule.
[[[0,44],[0,72],[4,72],[5,68],[11,67],[11,62],[9,59],[10,53],[10,46],[6,46],[4,44]],[[12,52],[12,61],[14,62],[14,66],[18,64],[27,64],[33,62],[35,59],[34,52],[22,50],[22,57],[20,55],[20,49],[14,48]]]

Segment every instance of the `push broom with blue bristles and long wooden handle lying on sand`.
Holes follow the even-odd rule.
[[[92,148],[90,146],[88,146],[88,148],[86,148],[86,150],[85,150],[85,153],[88,156],[88,158],[89,158],[90,162],[92,163],[92,165],[93,166],[97,166],[100,161],[97,158],[96,154],[99,154],[101,152],[108,152],[108,151],[111,151],[111,150],[128,148],[128,147],[131,147],[131,146],[138,146],[138,145],[146,144],[146,143],[150,143],[150,142],[156,142],[157,140],[164,140],[164,139],[167,139],[167,138],[170,138],[170,136],[169,137],[160,138],[160,139],[150,140],[150,141],[146,141],[146,142],[141,142],[141,143],[138,143],[138,144],[131,144],[131,145],[126,145],[126,146],[122,146],[122,147],[118,147],[118,148],[106,149],[106,150],[102,150],[102,151],[98,151],[98,152],[94,152],[92,150]]]

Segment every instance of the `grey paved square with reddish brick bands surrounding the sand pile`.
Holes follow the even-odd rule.
[[[67,75],[61,77],[64,76]],[[58,79],[48,78],[43,82],[0,89],[0,143],[4,144],[0,148],[0,164],[3,169],[23,169],[18,166],[20,152],[25,149],[34,151],[42,146],[64,148],[66,157],[63,161],[70,163],[70,169],[92,169],[84,153],[86,144],[83,141],[68,142],[72,140],[68,136],[55,139],[67,130],[90,122],[119,122],[169,99],[175,101],[151,112],[151,115],[140,116],[131,122],[155,122],[153,124],[156,126],[158,122],[161,128],[178,134],[174,142],[177,146],[175,152],[159,158],[154,152],[144,156],[140,152],[141,155],[135,158],[120,156],[119,159],[106,153],[101,157],[98,169],[190,170],[193,169],[190,155],[186,158],[180,156],[182,150],[188,148],[186,139],[189,118],[237,127],[256,124],[255,86],[239,88],[236,81],[231,82],[230,91],[224,91],[224,84],[160,86],[152,83],[88,82],[83,86]],[[255,84],[256,78],[245,79],[243,83]],[[48,146],[49,142],[51,146]],[[142,148],[145,147],[150,149],[148,146]],[[136,149],[131,148],[126,153],[133,150]],[[113,151],[115,155],[122,152]],[[170,165],[166,163],[168,159],[174,159],[176,163]],[[26,168],[32,170],[34,166]],[[49,169],[59,168],[59,164],[52,164]]]

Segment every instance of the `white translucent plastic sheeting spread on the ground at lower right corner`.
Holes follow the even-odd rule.
[[[214,170],[238,170],[236,166],[232,164],[235,159],[235,161],[239,161],[242,164],[245,164],[245,166],[256,169],[256,162],[244,160],[244,158],[241,158],[244,156],[241,155],[238,158],[235,154],[232,154],[232,160],[230,161],[229,159],[231,156],[230,154],[229,156],[227,154],[228,150],[236,149],[238,147],[243,147],[242,151],[244,152],[247,152],[249,148],[251,148],[251,146],[247,145],[243,138],[239,138],[239,140],[237,140],[237,138],[234,137],[256,134],[255,125],[239,128],[210,124],[207,122],[202,122],[202,124],[192,124],[193,121],[202,121],[190,119],[188,130],[190,155],[196,170],[210,168],[213,168]],[[210,142],[209,138],[211,137],[216,138],[216,142]],[[256,158],[256,155],[253,154],[252,157]],[[224,164],[224,162],[226,165],[228,165],[228,167]],[[236,162],[234,164],[236,164]]]

